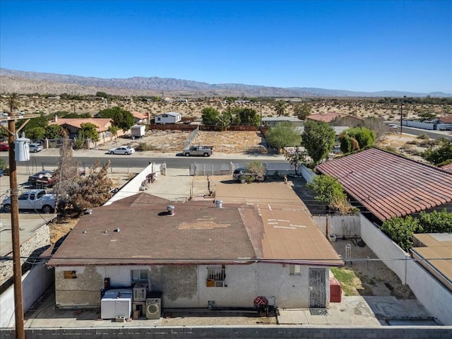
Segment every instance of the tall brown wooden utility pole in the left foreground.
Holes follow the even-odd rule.
[[[23,326],[23,296],[22,296],[22,263],[20,263],[20,231],[19,206],[17,190],[16,153],[14,141],[16,140],[16,120],[13,111],[9,112],[8,120],[8,157],[9,157],[9,187],[11,189],[11,239],[13,242],[13,280],[14,280],[14,316],[16,318],[16,338],[25,339]]]

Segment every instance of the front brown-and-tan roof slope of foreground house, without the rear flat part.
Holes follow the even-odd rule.
[[[253,185],[236,185],[253,186]],[[264,186],[264,185],[261,185]],[[287,191],[291,191],[287,189]],[[155,203],[150,203],[155,198]],[[50,266],[291,262],[341,266],[300,206],[172,203],[136,194],[83,215]],[[119,232],[115,230],[119,227]]]

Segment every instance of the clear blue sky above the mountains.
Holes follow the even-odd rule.
[[[0,66],[452,93],[452,0],[1,0]]]

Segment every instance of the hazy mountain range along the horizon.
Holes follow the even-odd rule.
[[[383,90],[356,92],[325,88],[280,88],[242,83],[203,83],[175,78],[95,78],[0,68],[0,93],[80,94],[102,91],[112,95],[165,95],[179,97],[452,97],[451,93],[412,93]]]

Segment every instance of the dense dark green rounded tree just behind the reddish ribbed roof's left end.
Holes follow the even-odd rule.
[[[335,131],[325,122],[307,119],[304,123],[302,145],[313,161],[318,165],[333,150]]]

